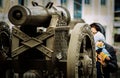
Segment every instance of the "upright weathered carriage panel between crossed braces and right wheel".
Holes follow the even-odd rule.
[[[67,49],[69,45],[69,27],[61,26],[55,28],[55,35],[54,35],[54,53],[53,53],[53,60],[55,58],[59,60],[66,60],[67,59]]]

